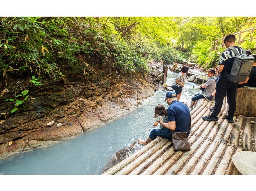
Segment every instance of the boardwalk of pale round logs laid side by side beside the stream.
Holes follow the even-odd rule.
[[[226,98],[225,98],[226,99]],[[174,152],[172,141],[157,137],[103,174],[228,174],[232,156],[239,151],[256,152],[255,117],[235,116],[228,123],[227,100],[219,121],[204,121],[212,101],[203,99],[191,111],[190,151]]]

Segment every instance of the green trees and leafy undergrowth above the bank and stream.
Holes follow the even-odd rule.
[[[12,73],[62,78],[64,68],[81,63],[146,74],[152,60],[182,62],[192,54],[200,65],[211,67],[219,58],[211,50],[215,40],[256,25],[255,17],[1,17],[0,21],[0,75],[5,80]],[[243,35],[250,37],[251,31]],[[255,39],[241,46],[254,51]],[[96,63],[87,63],[88,57]]]

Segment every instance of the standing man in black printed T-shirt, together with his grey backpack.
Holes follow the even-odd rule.
[[[251,61],[249,55],[245,54],[243,48],[236,46],[236,37],[234,34],[227,34],[223,42],[227,49],[220,56],[220,67],[218,70],[220,76],[216,85],[214,110],[210,115],[204,116],[203,119],[207,121],[218,121],[217,116],[220,113],[223,99],[227,95],[228,115],[225,118],[228,120],[228,123],[233,123],[233,117],[236,111],[237,84],[247,78],[251,72],[253,61]]]

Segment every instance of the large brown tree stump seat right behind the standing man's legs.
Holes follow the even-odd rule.
[[[256,88],[244,86],[236,90],[235,115],[256,116]]]

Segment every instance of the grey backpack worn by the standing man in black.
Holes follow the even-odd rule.
[[[245,54],[245,50],[243,48],[241,55],[233,46],[230,46],[228,49],[233,50],[233,52],[235,53],[231,72],[229,75],[227,74],[228,80],[234,83],[245,81],[252,70],[254,57]]]

